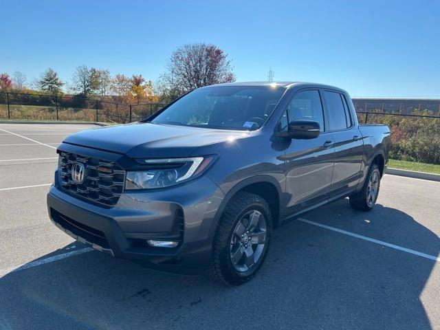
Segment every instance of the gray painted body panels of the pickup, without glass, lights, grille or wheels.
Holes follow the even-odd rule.
[[[155,264],[175,260],[175,264],[166,266],[168,269],[183,265],[204,267],[210,261],[212,239],[221,212],[240,189],[261,182],[272,185],[278,192],[277,220],[281,224],[311,208],[359,191],[377,155],[382,157],[386,167],[390,144],[388,127],[359,125],[346,91],[311,83],[278,84],[285,87],[285,93],[265,124],[255,131],[145,122],[91,129],[67,137],[59,151],[108,159],[124,170],[142,168],[139,159],[145,158],[199,155],[218,155],[218,158],[205,174],[184,184],[153,190],[124,190],[112,208],[94,206],[67,195],[56,179],[47,195],[51,217],[52,210],[56,210],[104,232],[116,257]],[[353,116],[353,126],[338,132],[327,130],[311,140],[276,136],[276,124],[289,100],[303,89],[329,89],[343,94]],[[327,118],[325,104],[324,108]],[[360,138],[353,140],[353,136]],[[327,140],[334,141],[333,147],[323,147]],[[160,250],[131,245],[133,239],[166,239],[175,225],[176,210],[184,215],[183,243],[178,248]]]

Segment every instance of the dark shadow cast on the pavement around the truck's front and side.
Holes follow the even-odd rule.
[[[305,218],[439,254],[437,235],[392,208],[359,213],[339,201]],[[0,278],[0,329],[430,329],[439,326],[430,320],[438,287],[420,296],[434,265],[292,221],[274,231],[261,271],[241,287],[100,252],[10,272]]]

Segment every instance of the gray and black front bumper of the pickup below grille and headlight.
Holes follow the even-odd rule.
[[[223,197],[208,177],[200,177],[168,190],[124,193],[113,208],[102,208],[55,184],[47,194],[47,208],[58,228],[91,248],[172,271],[208,265],[212,221]],[[147,239],[179,245],[153,248]]]

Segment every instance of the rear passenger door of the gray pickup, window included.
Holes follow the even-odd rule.
[[[322,94],[335,148],[331,194],[342,195],[354,190],[359,182],[364,144],[345,94],[327,89]]]

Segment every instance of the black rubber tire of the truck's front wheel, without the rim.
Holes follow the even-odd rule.
[[[239,227],[239,221],[241,223],[242,221],[246,221],[243,220],[245,219],[244,217],[246,214],[255,211],[257,214],[260,213],[260,218],[261,215],[263,215],[263,220],[265,220],[264,245],[262,252],[259,252],[261,254],[259,254],[258,261],[256,261],[254,265],[251,265],[247,271],[240,272],[239,270],[236,270],[237,265],[236,263],[233,263],[231,259],[233,252],[233,248],[231,248],[232,240],[234,237],[236,237],[233,237],[232,235],[236,235],[236,231],[234,230]],[[258,272],[259,268],[263,264],[269,249],[271,234],[272,214],[267,201],[265,201],[263,197],[250,192],[238,192],[229,201],[228,205],[223,211],[223,214],[221,215],[217,232],[212,243],[212,261],[208,267],[208,275],[211,278],[214,278],[214,280],[226,283],[228,285],[241,285],[249,281],[255,276],[256,272]],[[250,234],[250,236],[251,235],[252,234]],[[241,244],[241,248],[243,248],[243,242],[241,240],[240,242],[241,243],[239,244]],[[258,244],[252,244],[252,241],[250,241],[249,245],[252,248],[256,247]],[[248,245],[246,245],[246,248],[248,248]],[[243,254],[243,258],[247,258],[246,254]]]

